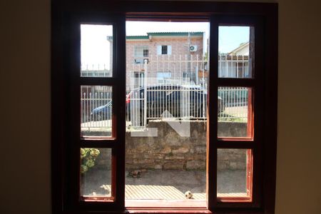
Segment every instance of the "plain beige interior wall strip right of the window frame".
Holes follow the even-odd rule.
[[[321,213],[321,1],[279,1],[276,213]]]

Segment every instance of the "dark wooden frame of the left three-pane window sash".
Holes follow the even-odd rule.
[[[81,24],[112,24],[113,25],[113,76],[112,77],[80,77],[80,26]],[[125,141],[125,116],[122,113],[125,111],[125,103],[117,97],[126,96],[125,75],[123,71],[125,64],[125,19],[123,16],[105,16],[93,19],[91,16],[73,16],[71,18],[71,26],[68,28],[73,39],[69,44],[71,50],[70,58],[70,92],[68,98],[68,105],[72,111],[70,115],[70,139],[66,146],[68,149],[66,158],[71,164],[68,173],[68,206],[76,209],[97,209],[99,206],[103,209],[123,208],[124,201],[124,183],[121,178],[124,178],[123,168],[124,160],[121,158],[124,154]],[[123,51],[120,51],[123,50]],[[111,138],[80,138],[80,102],[79,96],[80,87],[85,86],[112,86],[113,94],[113,108],[112,108],[112,134]],[[96,198],[93,201],[91,197],[83,197],[80,194],[80,148],[111,148],[111,197],[110,198]]]

